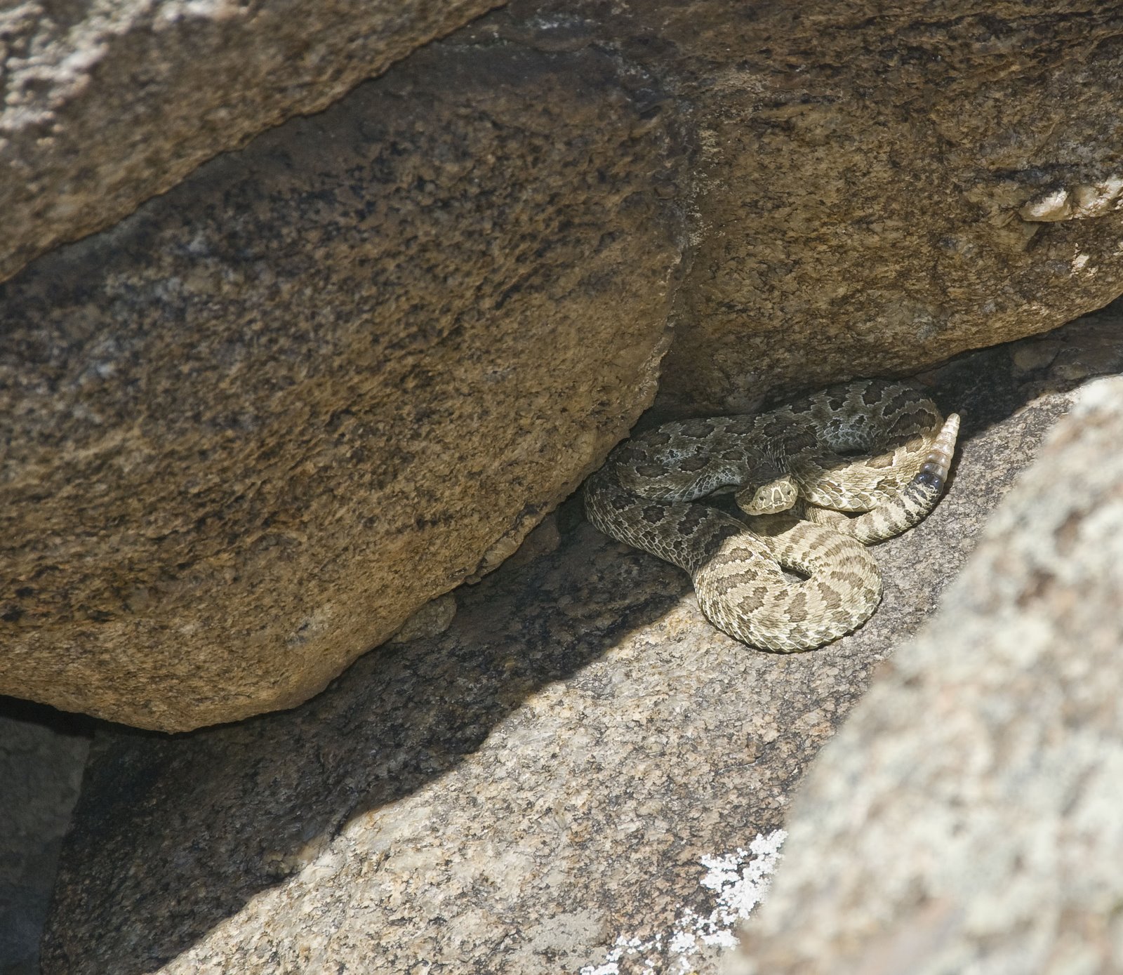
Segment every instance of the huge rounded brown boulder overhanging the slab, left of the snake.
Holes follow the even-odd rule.
[[[512,550],[654,394],[641,81],[427,52],[8,282],[0,692],[287,707]]]

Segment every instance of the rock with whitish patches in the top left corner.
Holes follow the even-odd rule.
[[[28,0],[0,10],[0,281],[496,0]]]

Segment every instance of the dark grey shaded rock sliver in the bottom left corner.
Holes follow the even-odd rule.
[[[0,698],[0,975],[38,975],[39,935],[92,723]]]

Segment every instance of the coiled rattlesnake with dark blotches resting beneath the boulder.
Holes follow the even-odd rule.
[[[942,420],[906,383],[844,383],[627,440],[586,483],[585,511],[604,534],[686,569],[702,611],[731,637],[814,649],[877,608],[882,574],[866,545],[935,507],[958,432],[958,414]],[[693,503],[728,491],[747,521]]]

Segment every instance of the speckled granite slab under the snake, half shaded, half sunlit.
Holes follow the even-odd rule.
[[[1121,366],[1113,309],[925,376],[964,414],[949,493],[878,546],[882,608],[822,650],[714,631],[684,574],[594,532],[575,499],[559,539],[547,522],[528,543],[538,558],[458,590],[444,635],[368,655],[294,711],[175,737],[110,729],[44,972],[554,975],[603,963],[617,936],[645,946],[621,972],[678,971],[670,936],[713,906],[702,857],[782,824],[1067,409],[1062,390]]]

